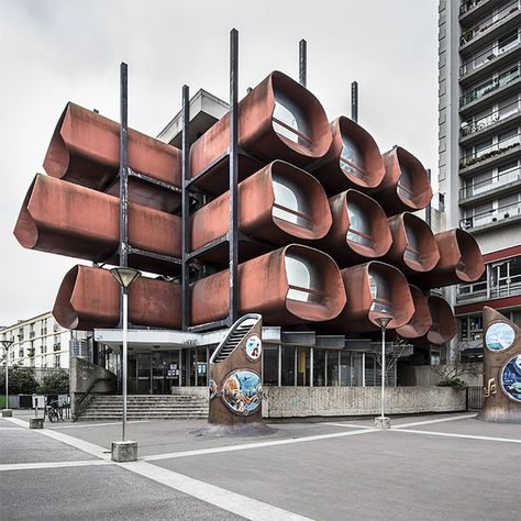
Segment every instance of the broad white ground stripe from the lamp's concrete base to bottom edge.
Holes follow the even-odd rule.
[[[310,518],[284,510],[257,499],[232,492],[215,485],[210,485],[182,474],[167,470],[145,462],[120,463],[122,468],[132,470],[140,476],[179,490],[201,501],[219,507],[229,512],[242,516],[252,521],[310,521]]]

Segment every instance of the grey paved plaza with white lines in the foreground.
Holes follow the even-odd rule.
[[[519,520],[521,426],[474,414],[270,423],[209,437],[204,421],[0,420],[2,520]]]

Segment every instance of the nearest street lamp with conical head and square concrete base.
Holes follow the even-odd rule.
[[[129,328],[129,288],[141,277],[141,271],[134,268],[117,267],[110,270],[112,276],[118,280],[122,290],[122,307],[123,307],[123,350],[122,350],[122,390],[123,390],[123,424],[122,424],[122,442],[112,443],[112,459],[114,461],[135,461],[137,458],[137,443],[129,442],[126,440],[126,373],[128,373],[128,341],[126,332]],[[115,445],[115,447],[114,447]],[[135,447],[135,457],[134,454]],[[115,456],[114,456],[115,450]],[[129,456],[130,454],[130,456]]]

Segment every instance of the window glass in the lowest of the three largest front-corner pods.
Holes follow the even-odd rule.
[[[318,270],[309,260],[297,256],[286,256],[286,276],[288,278],[288,295],[290,300],[308,303],[323,303],[324,291]]]

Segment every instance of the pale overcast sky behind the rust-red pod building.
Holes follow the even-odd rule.
[[[52,309],[84,260],[24,250],[12,234],[56,122],[74,101],[119,119],[119,66],[129,64],[129,124],[157,133],[184,84],[228,100],[229,33],[240,32],[240,93],[271,70],[298,79],[330,120],[351,114],[381,152],[399,144],[437,160],[437,0],[0,0],[0,324]],[[435,177],[435,176],[434,176]]]

